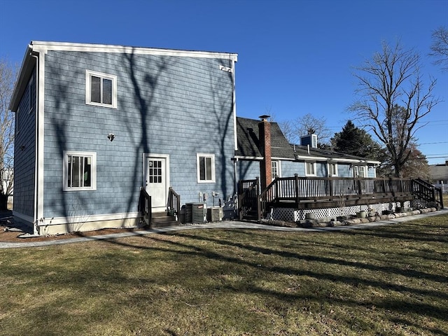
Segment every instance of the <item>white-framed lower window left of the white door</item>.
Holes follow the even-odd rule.
[[[97,190],[97,153],[64,151],[63,190]]]

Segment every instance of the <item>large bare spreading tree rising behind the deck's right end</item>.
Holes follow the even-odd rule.
[[[426,125],[419,122],[440,102],[432,94],[436,80],[430,78],[425,87],[419,66],[417,52],[404,50],[400,42],[393,47],[384,42],[381,52],[355,68],[360,99],[349,111],[386,146],[397,177],[411,155],[409,143],[416,141],[416,131]]]

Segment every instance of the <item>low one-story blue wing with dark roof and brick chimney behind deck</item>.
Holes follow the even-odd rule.
[[[262,178],[267,172],[268,185],[275,176],[316,177],[366,177],[375,178],[380,162],[344,153],[317,148],[316,134],[302,137],[302,144],[291,145],[277,123],[269,123],[268,116],[262,120],[237,118],[238,150],[237,179]],[[264,136],[260,136],[264,134]],[[265,162],[264,151],[270,151],[270,162]],[[269,155],[267,155],[269,156]]]

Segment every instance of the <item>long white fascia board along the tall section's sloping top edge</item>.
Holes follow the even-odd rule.
[[[31,48],[38,52],[55,51],[80,51],[80,52],[115,52],[136,55],[163,55],[179,57],[201,57],[238,60],[238,54],[230,52],[211,52],[195,50],[176,50],[160,48],[130,47],[125,45],[89,44],[89,43],[66,43],[66,42],[43,42],[31,41]]]

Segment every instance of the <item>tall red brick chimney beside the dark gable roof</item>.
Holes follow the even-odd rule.
[[[272,164],[271,164],[271,123],[267,121],[269,116],[260,116],[258,123],[258,133],[260,134],[260,152],[263,160],[260,162],[260,183],[264,190],[272,182]]]

